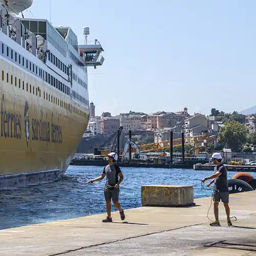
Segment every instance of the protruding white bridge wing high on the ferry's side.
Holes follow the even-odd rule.
[[[103,51],[97,39],[86,40],[85,44],[78,45],[78,52],[86,61],[86,66],[93,66],[95,69],[97,66],[103,65],[104,57],[100,55]]]

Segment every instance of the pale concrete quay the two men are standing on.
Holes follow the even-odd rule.
[[[256,255],[256,191],[230,195],[232,227],[222,204],[221,227],[209,226],[210,200],[127,209],[124,222],[113,212],[113,223],[102,214],[0,230],[0,255]]]

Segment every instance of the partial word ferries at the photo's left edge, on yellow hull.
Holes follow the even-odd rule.
[[[4,110],[5,95],[1,100],[1,137],[22,138],[22,116],[17,113]]]

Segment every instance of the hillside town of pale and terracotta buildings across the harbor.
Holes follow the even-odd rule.
[[[224,128],[228,127],[228,123],[231,125],[242,124],[243,129],[238,129],[240,133],[244,131],[241,138],[237,138],[237,143],[233,143],[233,145],[228,141],[233,141],[233,138],[225,137]],[[148,143],[169,140],[170,131],[173,131],[174,139],[181,138],[181,134],[184,133],[186,143],[193,142],[193,138],[197,136],[207,134],[211,140],[203,141],[200,145],[214,144],[214,147],[219,150],[229,147],[233,152],[250,152],[254,150],[254,147],[256,150],[256,146],[254,146],[256,144],[255,115],[242,115],[237,112],[224,113],[216,109],[211,109],[211,114],[208,116],[201,113],[190,114],[187,108],[179,112],[159,111],[150,114],[130,111],[129,113],[120,113],[118,116],[104,112],[101,116],[96,116],[95,105],[91,102],[90,121],[83,137],[110,135],[116,132],[120,126],[124,133],[132,130],[137,135],[154,135],[154,140],[147,141]],[[222,134],[220,134],[221,131]]]

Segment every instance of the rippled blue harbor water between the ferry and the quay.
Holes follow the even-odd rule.
[[[101,175],[99,166],[70,166],[58,181],[0,191],[0,229],[83,217],[105,212],[105,180],[88,184]],[[141,206],[141,185],[194,185],[194,197],[209,197],[201,179],[211,171],[193,169],[121,168],[124,180],[119,201],[123,209]],[[228,172],[228,179],[235,172]],[[255,178],[255,173],[250,173]],[[208,181],[206,181],[207,183]],[[112,205],[112,210],[116,208]]]

